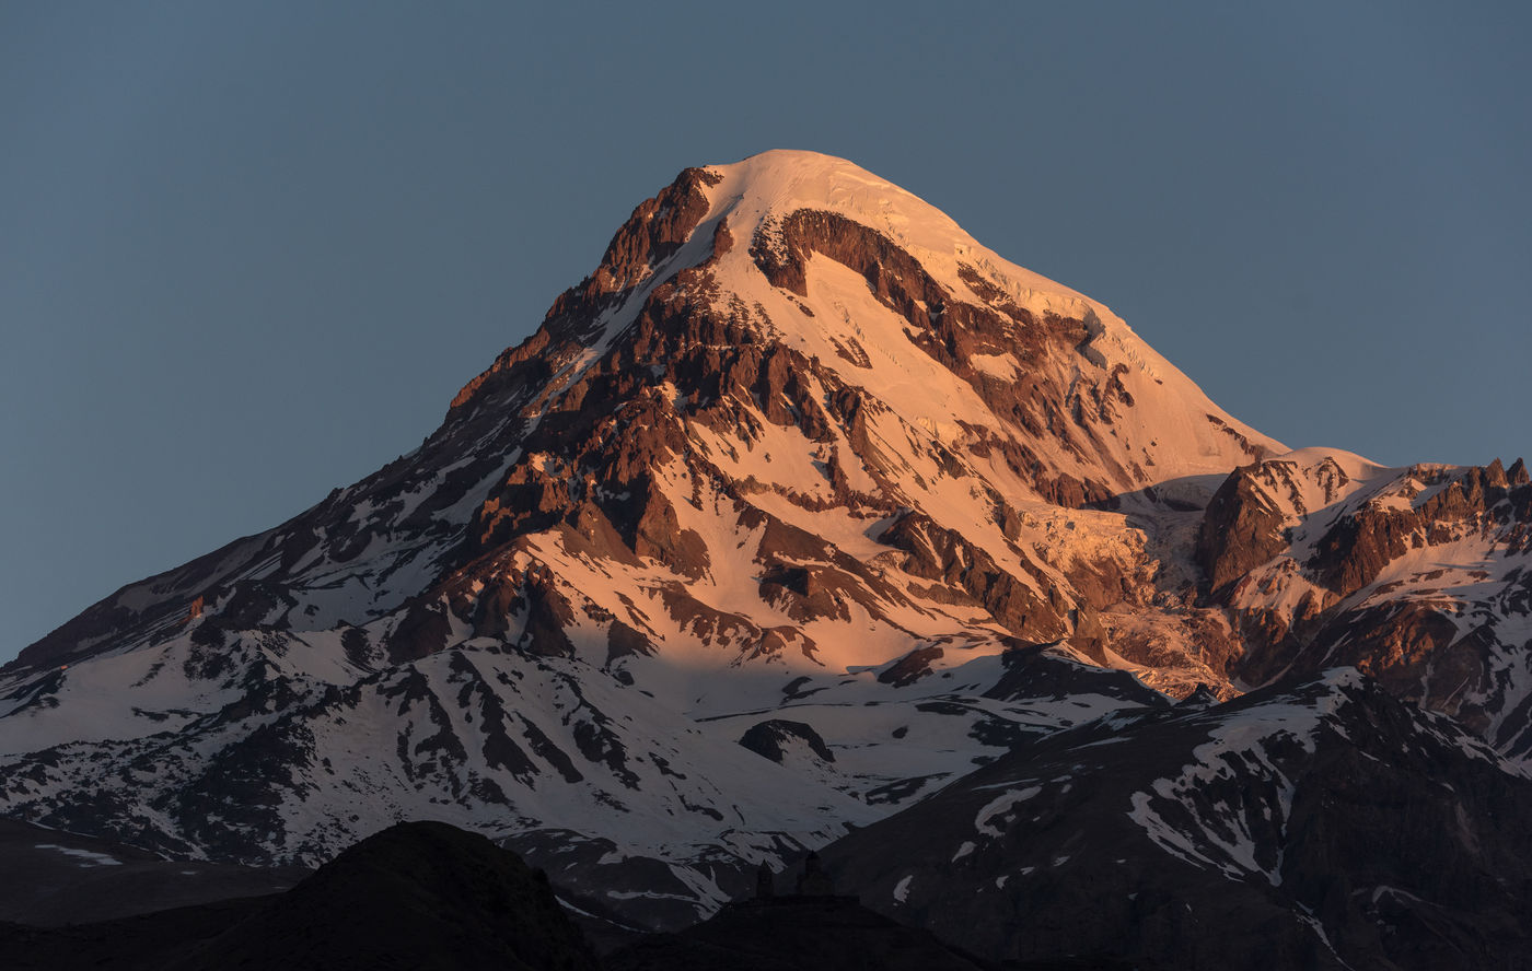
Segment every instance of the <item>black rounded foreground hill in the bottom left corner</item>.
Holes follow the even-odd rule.
[[[0,925],[8,971],[587,971],[547,878],[441,822],[371,836],[283,894],[64,928]]]

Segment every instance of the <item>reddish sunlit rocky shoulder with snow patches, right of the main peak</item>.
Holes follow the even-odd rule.
[[[1380,469],[1308,450],[1232,473],[1198,561],[1247,683],[1351,665],[1394,695],[1532,755],[1532,484],[1506,470]]]

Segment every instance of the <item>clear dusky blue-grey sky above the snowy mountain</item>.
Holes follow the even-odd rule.
[[[1532,458],[1529,5],[533,6],[0,3],[0,662],[414,449],[634,205],[774,147],[1290,446]]]

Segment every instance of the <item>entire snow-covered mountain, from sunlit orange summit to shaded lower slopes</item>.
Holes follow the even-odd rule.
[[[1295,455],[850,162],[688,168],[418,450],[0,671],[0,799],[245,862],[432,816],[674,927],[1023,740],[1342,640],[1524,757],[1524,469]],[[1460,686],[1411,694],[1442,652]]]

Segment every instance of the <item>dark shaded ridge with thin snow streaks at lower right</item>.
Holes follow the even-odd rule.
[[[1529,813],[1481,740],[1340,668],[1022,743],[823,855],[993,960],[1509,971]]]

